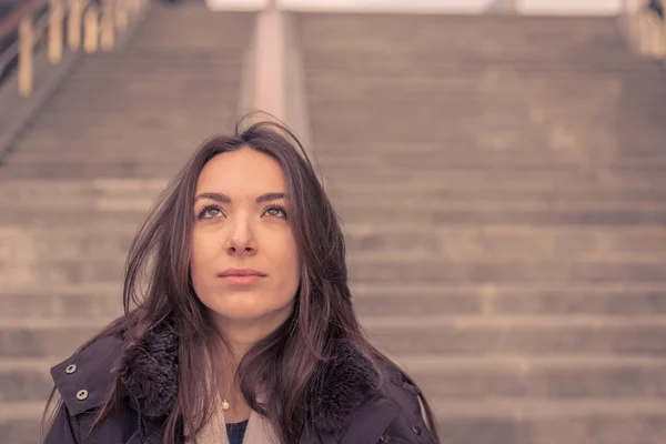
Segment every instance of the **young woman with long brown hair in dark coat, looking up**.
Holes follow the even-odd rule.
[[[208,140],[134,239],[125,314],[54,366],[47,444],[438,443],[363,335],[337,216],[270,121]]]

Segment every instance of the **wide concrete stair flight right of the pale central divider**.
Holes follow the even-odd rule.
[[[447,444],[666,436],[666,72],[610,19],[299,16],[356,309]]]

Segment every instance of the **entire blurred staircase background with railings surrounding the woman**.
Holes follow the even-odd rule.
[[[663,7],[0,0],[0,443],[38,442],[49,369],[121,313],[167,181],[261,108],[443,443],[663,444]]]

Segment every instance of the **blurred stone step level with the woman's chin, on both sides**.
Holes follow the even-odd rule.
[[[34,283],[0,294],[0,324],[4,320],[62,317],[112,319],[122,314],[122,289],[115,283],[56,285],[48,292]],[[666,315],[663,284],[528,285],[351,283],[361,316],[547,316],[598,315],[632,317]]]

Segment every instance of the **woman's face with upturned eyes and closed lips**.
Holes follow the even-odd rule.
[[[300,259],[286,180],[271,157],[243,148],[211,159],[199,175],[191,273],[215,324],[272,331],[292,313]]]

